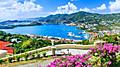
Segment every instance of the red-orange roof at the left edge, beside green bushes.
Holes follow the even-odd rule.
[[[13,54],[14,49],[12,47],[7,47],[7,45],[11,44],[10,42],[0,41],[0,50],[7,50],[7,53]]]

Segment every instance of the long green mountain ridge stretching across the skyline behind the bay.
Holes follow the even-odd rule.
[[[14,22],[15,20],[8,20],[9,22]],[[3,21],[3,22],[8,22]],[[19,22],[21,20],[16,20]],[[53,23],[53,24],[63,24],[63,23],[100,23],[100,22],[120,22],[120,13],[113,13],[113,14],[98,14],[98,13],[90,13],[79,11],[72,14],[56,14],[56,15],[49,15],[47,17],[36,17],[36,18],[28,18],[23,19],[23,22],[27,21],[39,21],[39,22],[46,22],[46,23]]]

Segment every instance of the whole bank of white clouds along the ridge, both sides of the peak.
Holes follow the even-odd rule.
[[[66,5],[58,6],[56,11],[51,12],[51,14],[71,14],[71,13],[75,13],[78,11],[98,12],[98,11],[104,11],[106,9],[107,9],[107,7],[105,4],[102,4],[98,7],[92,8],[92,9],[87,8],[87,7],[78,9],[76,5],[68,2]]]

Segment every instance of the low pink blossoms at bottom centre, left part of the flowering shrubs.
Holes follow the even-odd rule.
[[[84,55],[75,55],[75,56],[64,56],[56,59],[47,67],[91,67],[91,64],[87,63],[87,60],[91,56]]]

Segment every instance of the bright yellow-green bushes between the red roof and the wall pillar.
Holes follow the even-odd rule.
[[[24,40],[23,42],[20,42],[17,44],[13,44],[11,45],[11,47],[14,47],[15,53],[18,54],[18,53],[35,50],[35,49],[50,46],[50,45],[51,45],[51,41],[49,40],[42,40],[42,39],[34,38],[34,39]]]

